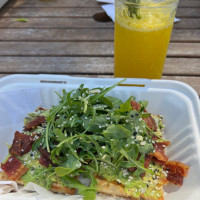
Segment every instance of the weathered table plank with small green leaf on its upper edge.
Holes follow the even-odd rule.
[[[28,22],[17,22],[17,18],[1,18],[0,28],[114,28],[113,22],[97,22],[92,18],[27,18]],[[200,18],[182,18],[174,29],[200,29]]]

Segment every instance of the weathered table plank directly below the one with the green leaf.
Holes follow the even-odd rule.
[[[113,41],[113,29],[1,29],[0,41]],[[200,30],[172,31],[171,42],[200,42]]]

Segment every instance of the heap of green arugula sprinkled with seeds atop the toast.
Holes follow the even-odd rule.
[[[131,107],[133,96],[123,103],[107,95],[123,81],[108,88],[80,85],[70,92],[63,90],[62,95],[57,93],[60,102],[48,111],[45,132],[32,147],[36,150],[42,144],[54,164],[47,168],[49,176],[53,174],[64,185],[76,188],[85,200],[95,199],[96,175],[126,186],[130,183],[122,171],[137,180],[144,172],[152,174],[144,167],[145,155],[154,150],[151,138],[156,134],[143,120],[150,115],[145,111],[148,102],[140,101],[141,109],[136,111]],[[77,180],[79,176],[89,179],[90,184],[85,186]]]

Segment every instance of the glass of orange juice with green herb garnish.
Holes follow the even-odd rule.
[[[115,0],[115,77],[160,79],[178,0]]]

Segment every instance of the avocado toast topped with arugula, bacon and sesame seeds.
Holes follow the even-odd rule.
[[[105,96],[118,84],[63,90],[57,106],[30,113],[1,164],[1,179],[60,193],[77,189],[88,200],[97,192],[161,200],[163,185],[182,185],[188,166],[165,155],[170,142],[162,117],[147,112],[147,101]]]

